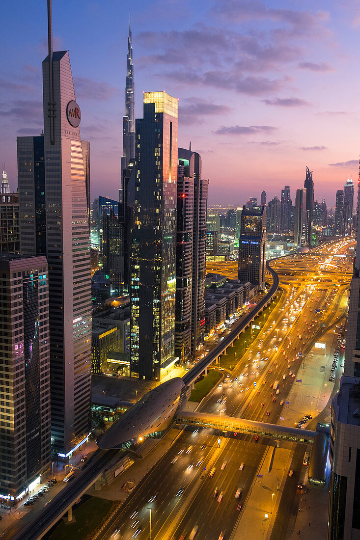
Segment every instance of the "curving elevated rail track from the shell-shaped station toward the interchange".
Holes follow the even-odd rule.
[[[289,255],[285,255],[285,257],[289,257]],[[277,259],[281,259],[282,257],[278,257]],[[219,342],[214,349],[212,349],[202,360],[199,360],[193,368],[191,368],[188,373],[186,373],[183,376],[183,381],[186,386],[189,386],[191,383],[196,381],[197,377],[201,375],[203,372],[206,373],[206,369],[214,362],[214,360],[217,360],[218,357],[221,354],[226,354],[226,351],[228,347],[231,347],[234,341],[236,341],[239,337],[239,335],[244,332],[245,328],[247,328],[252,321],[254,321],[255,317],[265,309],[266,306],[271,302],[272,297],[276,293],[278,286],[279,286],[279,276],[273,270],[270,266],[270,262],[275,261],[277,259],[271,259],[270,261],[266,261],[266,269],[270,272],[272,275],[272,286],[270,288],[270,291],[266,293],[261,300],[259,300],[254,306],[254,308],[251,309],[251,311],[245,315],[240,321],[238,321],[234,327],[231,329],[231,332],[224,337],[224,339]]]

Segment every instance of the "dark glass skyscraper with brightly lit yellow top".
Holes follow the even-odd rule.
[[[136,163],[128,185],[131,219],[132,376],[160,381],[176,361],[175,275],[178,100],[144,92],[136,120]]]

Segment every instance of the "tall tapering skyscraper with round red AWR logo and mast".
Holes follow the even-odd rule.
[[[68,51],[43,61],[44,134],[18,137],[21,252],[49,265],[51,443],[61,457],[88,435],[91,368],[89,145],[81,140]]]

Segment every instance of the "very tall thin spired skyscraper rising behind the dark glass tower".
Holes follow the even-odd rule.
[[[135,159],[135,94],[134,94],[134,64],[132,63],[131,26],[129,17],[128,64],[125,87],[125,116],[123,117],[123,157],[121,170],[128,165],[130,159]]]

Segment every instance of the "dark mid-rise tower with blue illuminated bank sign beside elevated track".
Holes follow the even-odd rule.
[[[265,281],[266,208],[243,206],[239,237],[238,279],[261,288]]]

